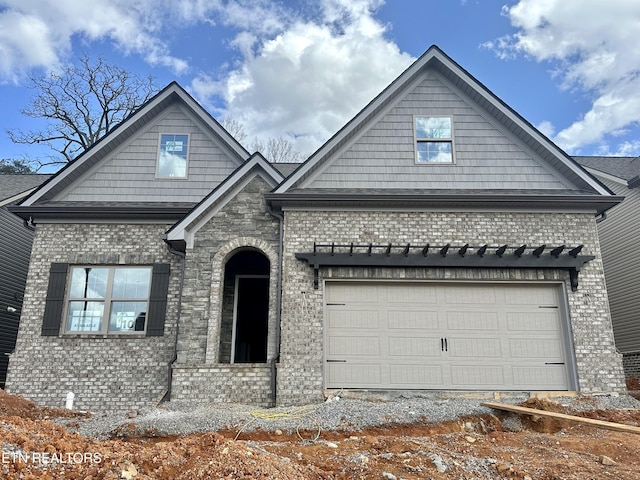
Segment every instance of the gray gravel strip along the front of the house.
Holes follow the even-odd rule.
[[[528,397],[498,400],[519,404]],[[194,432],[237,430],[345,430],[358,431],[367,427],[392,424],[437,423],[468,415],[496,413],[480,405],[488,398],[433,398],[412,396],[405,398],[359,399],[332,398],[321,404],[303,407],[260,408],[238,404],[209,404],[194,407],[169,402],[158,408],[129,415],[94,414],[82,422],[65,422],[79,433],[107,438],[114,435],[183,435]],[[627,395],[593,397],[561,397],[553,401],[574,410],[640,408],[640,401]]]

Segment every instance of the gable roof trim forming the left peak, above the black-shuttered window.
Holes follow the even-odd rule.
[[[221,143],[227,147],[230,158],[234,159],[238,165],[241,165],[249,158],[249,153],[235,138],[202,108],[186,90],[178,85],[178,83],[172,82],[80,156],[66,164],[58,173],[27,197],[21,205],[31,206],[36,202],[55,198],[56,194],[63,191],[94,165],[98,164],[100,160],[105,158],[118,146],[122,145],[159,112],[174,102],[181,102],[201,120],[210,131],[221,140]]]

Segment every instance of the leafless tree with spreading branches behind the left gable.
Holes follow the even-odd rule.
[[[7,133],[14,143],[45,144],[61,155],[34,161],[38,168],[70,162],[158,91],[153,77],[139,77],[102,58],[92,62],[87,55],[78,65],[29,80],[36,94],[22,113],[47,120],[48,127]]]

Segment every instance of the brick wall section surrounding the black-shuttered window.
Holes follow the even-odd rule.
[[[168,225],[40,224],[36,228],[16,350],[7,391],[63,407],[67,392],[79,410],[130,410],[155,405],[168,387],[174,355],[180,259],[161,240]],[[170,263],[164,336],[42,336],[52,262],[99,265]]]

